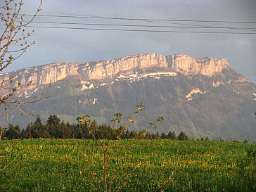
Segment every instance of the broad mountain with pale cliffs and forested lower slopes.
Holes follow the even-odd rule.
[[[13,77],[19,89],[15,97],[31,100],[45,93],[51,97],[24,105],[28,113],[44,120],[55,113],[75,122],[89,114],[110,123],[115,113],[130,116],[138,103],[145,110],[134,127],[142,129],[156,117],[165,121],[158,132],[185,131],[191,136],[246,136],[256,140],[256,85],[232,70],[225,58],[191,58],[184,54],[158,53],[125,56],[88,63],[51,63],[1,74]],[[32,119],[11,109],[11,121],[26,126]]]

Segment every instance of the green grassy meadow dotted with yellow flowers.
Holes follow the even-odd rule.
[[[256,189],[252,143],[154,139],[108,145],[108,191]],[[0,169],[14,158],[0,172],[1,192],[104,191],[103,156],[93,140],[1,141]]]

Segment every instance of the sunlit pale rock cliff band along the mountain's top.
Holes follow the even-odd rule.
[[[151,67],[167,68],[184,75],[202,74],[211,76],[222,72],[224,68],[229,67],[229,64],[225,58],[195,59],[183,54],[166,57],[158,53],[148,53],[82,64],[51,63],[6,73],[0,76],[0,80],[14,77],[14,83],[28,84],[31,81],[30,89],[34,89],[39,85],[58,82],[70,75],[82,75],[84,79],[88,80],[112,79],[115,75],[124,71],[132,73],[139,69]]]

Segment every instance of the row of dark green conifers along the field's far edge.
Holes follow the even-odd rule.
[[[4,132],[5,139],[32,139],[32,138],[57,138],[57,139],[117,139],[122,129],[113,129],[110,125],[98,125],[94,121],[91,127],[87,125],[70,124],[69,122],[60,122],[57,115],[50,115],[45,124],[41,123],[41,119],[37,116],[35,122],[30,123],[23,130],[18,125],[9,124],[8,129]],[[90,133],[94,132],[94,136]],[[151,132],[136,132],[125,130],[120,139],[179,139],[187,140],[188,136],[181,132],[176,136],[174,132],[166,134]]]

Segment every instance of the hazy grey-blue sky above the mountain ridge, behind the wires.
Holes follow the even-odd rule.
[[[32,14],[39,0],[24,0],[23,13]],[[94,18],[56,18],[38,16],[33,26],[93,27],[106,29],[172,30],[177,32],[127,32],[105,30],[70,30],[27,27],[34,29],[31,41],[36,41],[23,56],[4,72],[54,62],[84,63],[109,60],[139,53],[162,53],[165,56],[184,53],[193,58],[227,58],[231,68],[256,82],[256,34],[203,34],[200,32],[256,32],[256,1],[237,0],[43,0],[40,15],[91,15],[108,18],[161,19],[158,22],[139,20],[107,20]],[[169,20],[253,21],[255,23],[196,23]],[[100,23],[122,25],[207,25],[214,27],[246,27],[255,31],[120,27],[96,25],[60,25],[56,23]],[[178,25],[178,24],[179,25]]]

